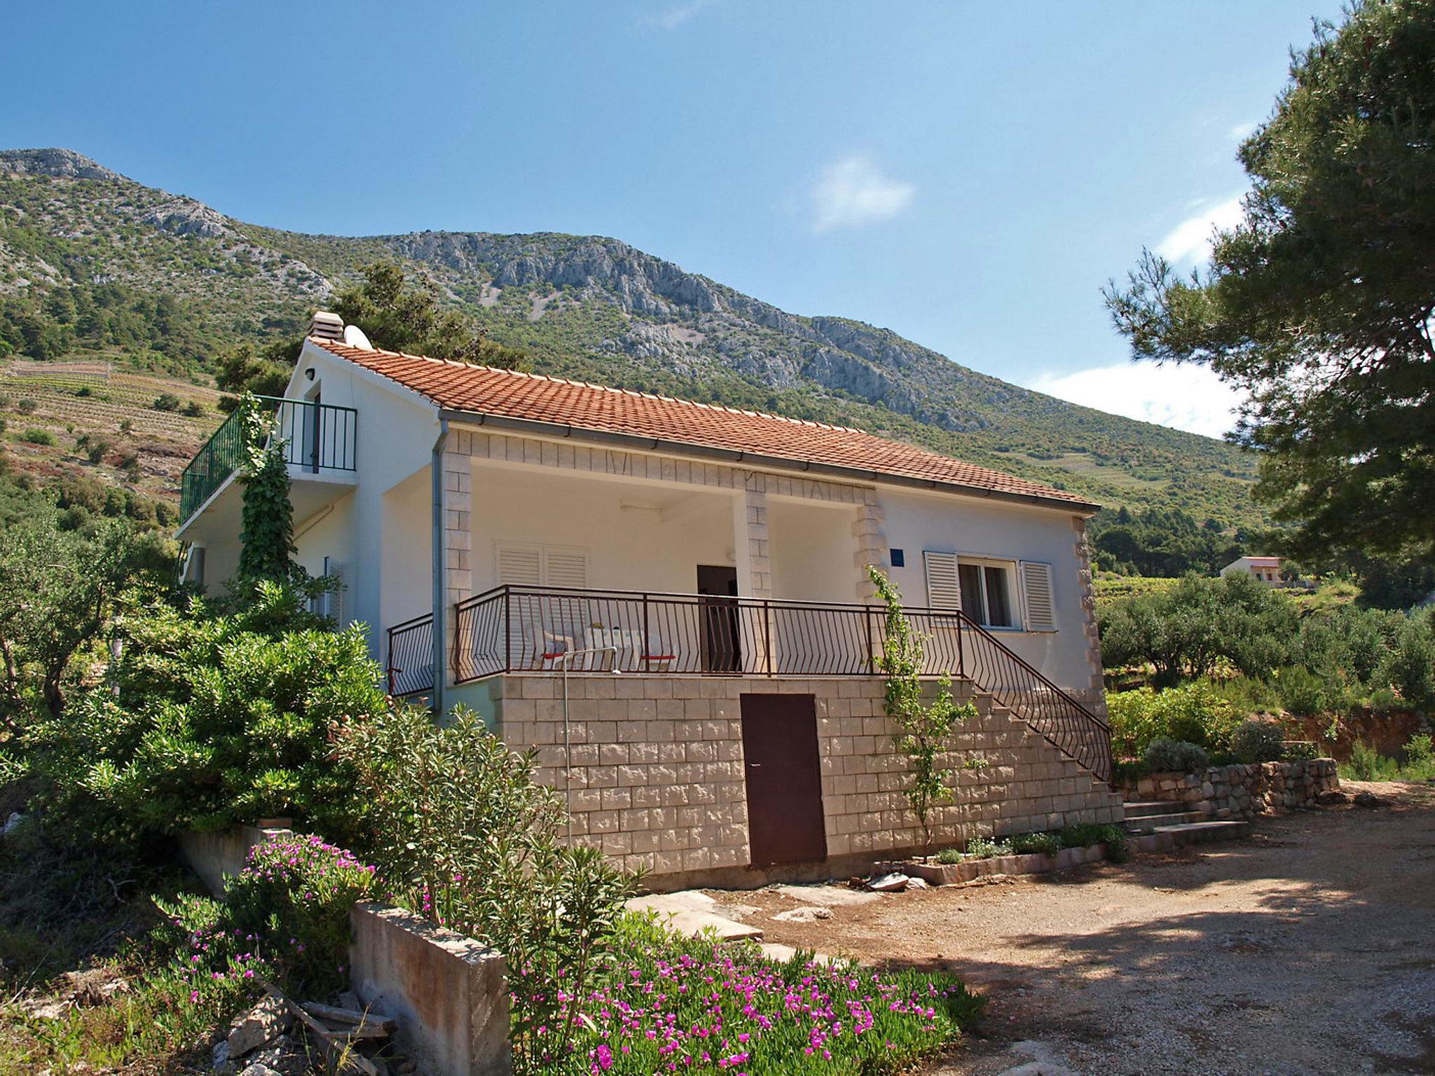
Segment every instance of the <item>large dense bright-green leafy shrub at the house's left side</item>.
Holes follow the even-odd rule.
[[[352,842],[354,773],[330,736],[386,700],[362,630],[327,630],[306,605],[303,588],[263,584],[232,614],[159,604],[123,620],[113,692],[85,694],[36,733],[76,839],[290,816]]]

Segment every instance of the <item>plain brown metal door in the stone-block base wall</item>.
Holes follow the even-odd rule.
[[[814,697],[743,694],[742,756],[752,862],[825,859]]]

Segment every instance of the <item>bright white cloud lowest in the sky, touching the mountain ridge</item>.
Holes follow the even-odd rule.
[[[1236,428],[1243,393],[1205,366],[1118,363],[1075,373],[1046,373],[1033,389],[1072,403],[1218,438]]]

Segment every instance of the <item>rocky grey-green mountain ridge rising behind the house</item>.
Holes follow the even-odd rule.
[[[1022,389],[887,329],[791,314],[618,240],[286,232],[70,151],[0,151],[0,298],[100,283],[169,297],[199,369],[294,334],[379,258],[433,277],[542,372],[862,426],[1108,504],[1260,519],[1250,461],[1228,445]]]

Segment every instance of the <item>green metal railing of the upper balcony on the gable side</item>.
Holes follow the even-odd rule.
[[[273,413],[273,433],[284,445],[284,462],[310,472],[353,471],[359,445],[359,412],[331,403],[260,396]],[[244,430],[235,412],[214,432],[179,482],[179,518],[188,519],[208,501],[244,458]]]

